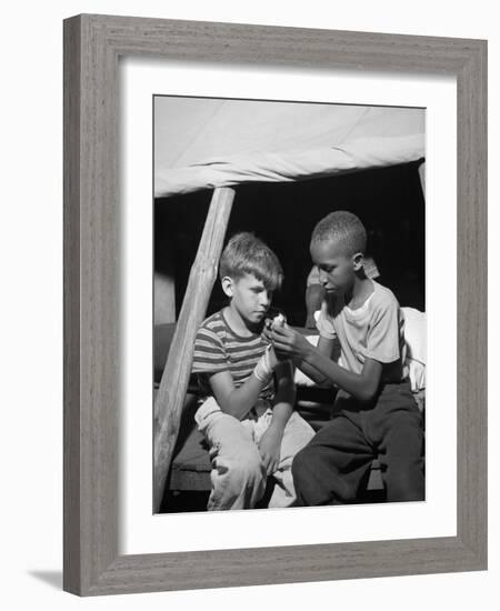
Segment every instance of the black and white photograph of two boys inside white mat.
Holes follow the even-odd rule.
[[[426,109],[154,96],[153,183],[153,511],[424,502]]]

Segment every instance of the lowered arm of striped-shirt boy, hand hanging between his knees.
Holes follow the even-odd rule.
[[[284,427],[293,412],[294,402],[296,384],[293,383],[292,364],[290,361],[281,362],[276,369],[276,393],[271,423],[259,441],[259,451],[268,475],[278,469]]]

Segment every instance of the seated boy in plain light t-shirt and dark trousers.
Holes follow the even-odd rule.
[[[424,499],[423,425],[403,367],[404,319],[392,292],[364,273],[366,244],[354,214],[322,219],[310,244],[326,290],[318,347],[287,327],[270,334],[278,355],[339,388],[333,420],[293,460],[304,505],[357,502],[374,458],[388,501]],[[342,365],[332,360],[336,342]]]

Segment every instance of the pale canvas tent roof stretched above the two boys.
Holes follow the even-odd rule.
[[[154,98],[157,197],[422,157],[423,109]]]

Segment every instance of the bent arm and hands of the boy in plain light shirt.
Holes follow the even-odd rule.
[[[376,395],[382,374],[381,362],[367,359],[362,372],[354,373],[338,365],[331,360],[331,353],[330,355],[323,353],[322,350],[320,351],[319,348],[310,344],[306,338],[290,328],[276,329],[272,338],[277,352],[287,354],[288,358],[298,362],[302,371],[306,372],[308,368],[312,368],[311,372],[316,370],[323,379],[330,380],[330,382],[349,392],[359,401],[370,401]],[[332,340],[326,341],[332,342]],[[328,343],[322,345],[328,347]],[[330,344],[331,348],[332,343]]]

